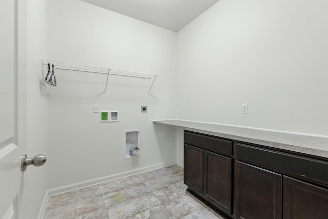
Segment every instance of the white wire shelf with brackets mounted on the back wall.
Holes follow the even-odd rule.
[[[108,68],[98,68],[98,67],[91,67],[91,66],[75,65],[75,64],[70,64],[70,63],[61,63],[61,62],[54,62],[54,61],[49,61],[49,60],[43,60],[42,61],[42,65],[48,65],[49,63],[53,64],[55,66],[55,69],[69,70],[69,71],[74,71],[74,72],[87,72],[87,73],[96,73],[96,74],[107,75],[105,92],[107,90],[109,75],[134,77],[134,78],[141,78],[141,79],[150,80],[150,81],[152,81],[152,83],[151,83],[151,86],[149,88],[148,93],[150,93],[150,90],[152,89],[153,84],[155,82],[155,79],[157,77],[157,75],[154,75],[154,74],[143,74],[143,73],[137,73],[137,72],[131,72],[131,71],[123,71],[123,70],[115,70],[115,69],[108,69]]]

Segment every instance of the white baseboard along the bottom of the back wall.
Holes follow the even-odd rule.
[[[48,194],[48,196],[52,196],[52,195],[56,195],[56,194],[60,194],[60,193],[65,193],[65,192],[73,191],[73,190],[80,189],[80,188],[94,186],[94,185],[97,185],[97,184],[100,184],[100,183],[105,183],[105,182],[109,182],[109,181],[113,181],[113,180],[118,180],[119,178],[124,178],[124,177],[130,176],[130,175],[135,175],[135,174],[139,174],[139,173],[142,173],[142,172],[147,172],[147,171],[151,171],[151,170],[171,166],[171,165],[174,165],[174,164],[176,164],[176,162],[160,163],[160,164],[150,165],[150,166],[147,166],[147,167],[142,167],[142,168],[126,171],[126,172],[112,174],[112,175],[109,175],[109,176],[95,178],[93,180],[88,180],[88,181],[84,181],[84,182],[70,184],[70,185],[67,185],[67,186],[61,186],[61,187],[49,189],[47,191],[47,194]]]

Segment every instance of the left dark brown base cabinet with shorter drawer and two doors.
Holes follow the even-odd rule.
[[[185,132],[184,182],[189,191],[208,205],[231,215],[233,159],[217,153],[220,150],[232,153],[232,142]]]

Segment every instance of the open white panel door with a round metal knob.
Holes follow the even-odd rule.
[[[23,191],[22,155],[26,153],[23,112],[26,86],[18,74],[21,58],[18,49],[18,1],[0,1],[0,218],[18,218]],[[19,20],[24,17],[19,17]],[[24,33],[22,33],[24,35]],[[18,52],[19,51],[19,52]],[[25,62],[24,62],[25,63]],[[23,71],[24,72],[24,71]],[[20,73],[20,72],[19,72]],[[23,95],[20,95],[22,93]],[[24,95],[25,94],[25,95]],[[22,117],[21,117],[22,116]],[[26,126],[25,126],[26,127]],[[19,134],[19,137],[18,137]],[[22,136],[22,137],[20,137]]]

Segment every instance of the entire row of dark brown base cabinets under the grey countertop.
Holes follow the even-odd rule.
[[[185,131],[188,191],[228,219],[328,219],[328,160]]]

